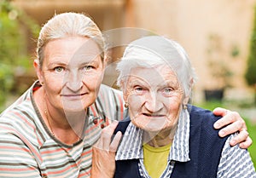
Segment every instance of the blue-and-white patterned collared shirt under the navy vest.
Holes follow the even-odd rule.
[[[249,152],[239,146],[230,146],[230,135],[224,144],[218,174],[220,178],[256,178]],[[143,164],[143,130],[129,123],[116,154],[116,160],[139,159],[141,177],[150,178]],[[167,166],[160,178],[171,177],[175,162],[188,162],[189,158],[189,112],[181,112],[172,146],[167,158]]]

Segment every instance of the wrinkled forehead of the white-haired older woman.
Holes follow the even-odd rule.
[[[176,73],[169,66],[132,68],[129,75],[129,83],[137,81],[149,83],[150,85],[178,83]]]

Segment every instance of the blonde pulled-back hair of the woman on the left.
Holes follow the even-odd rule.
[[[37,57],[40,66],[44,61],[44,47],[49,41],[62,37],[89,37],[93,39],[105,54],[105,43],[102,32],[96,23],[84,14],[73,12],[55,14],[41,29],[38,37]]]

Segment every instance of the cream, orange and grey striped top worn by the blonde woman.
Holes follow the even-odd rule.
[[[104,118],[126,117],[121,93],[101,86],[90,106],[83,140],[69,146],[46,127],[32,97],[37,87],[38,82],[0,116],[0,177],[90,177],[91,146]]]

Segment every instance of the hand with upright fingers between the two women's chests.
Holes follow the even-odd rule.
[[[118,122],[110,123],[102,129],[99,141],[92,147],[92,167],[90,178],[113,178],[115,170],[115,152],[119,146],[122,133],[119,131],[113,137],[113,131]],[[113,138],[113,141],[112,141]]]

